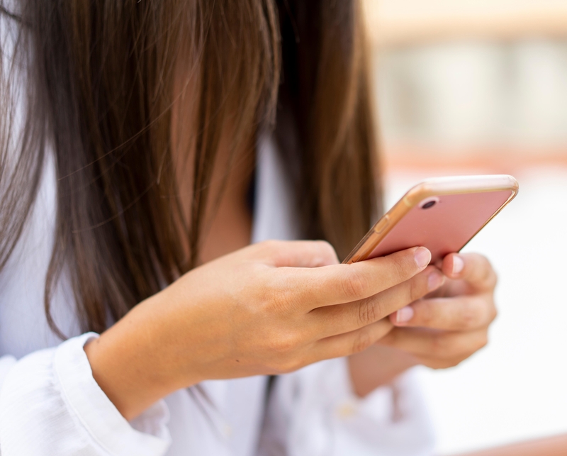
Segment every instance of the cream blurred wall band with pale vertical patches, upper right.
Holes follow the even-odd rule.
[[[567,39],[378,48],[375,61],[387,144],[567,150]]]

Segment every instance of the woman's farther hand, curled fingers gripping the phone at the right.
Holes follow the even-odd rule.
[[[475,253],[447,255],[438,267],[448,278],[443,287],[391,314],[395,328],[378,344],[405,352],[415,364],[444,369],[488,342],[497,277],[490,262]]]

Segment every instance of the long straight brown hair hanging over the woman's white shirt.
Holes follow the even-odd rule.
[[[1,9],[19,30],[10,65],[24,65],[27,79],[13,138],[16,72],[0,63],[0,268],[52,149],[57,224],[45,311],[61,337],[50,299],[63,270],[82,328],[101,332],[196,265],[228,125],[232,151],[274,131],[297,165],[288,171],[306,238],[344,256],[380,211],[358,1],[28,0]],[[172,111],[188,87],[192,203],[183,208]]]

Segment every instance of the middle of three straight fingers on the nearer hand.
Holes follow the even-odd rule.
[[[305,323],[308,328],[318,328],[318,338],[349,333],[421,299],[441,287],[444,281],[445,277],[439,269],[428,267],[411,279],[361,301],[315,308]]]

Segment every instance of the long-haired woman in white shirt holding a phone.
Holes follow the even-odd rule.
[[[485,345],[495,273],[339,265],[380,211],[358,2],[1,21],[2,454],[429,454],[406,371]]]

